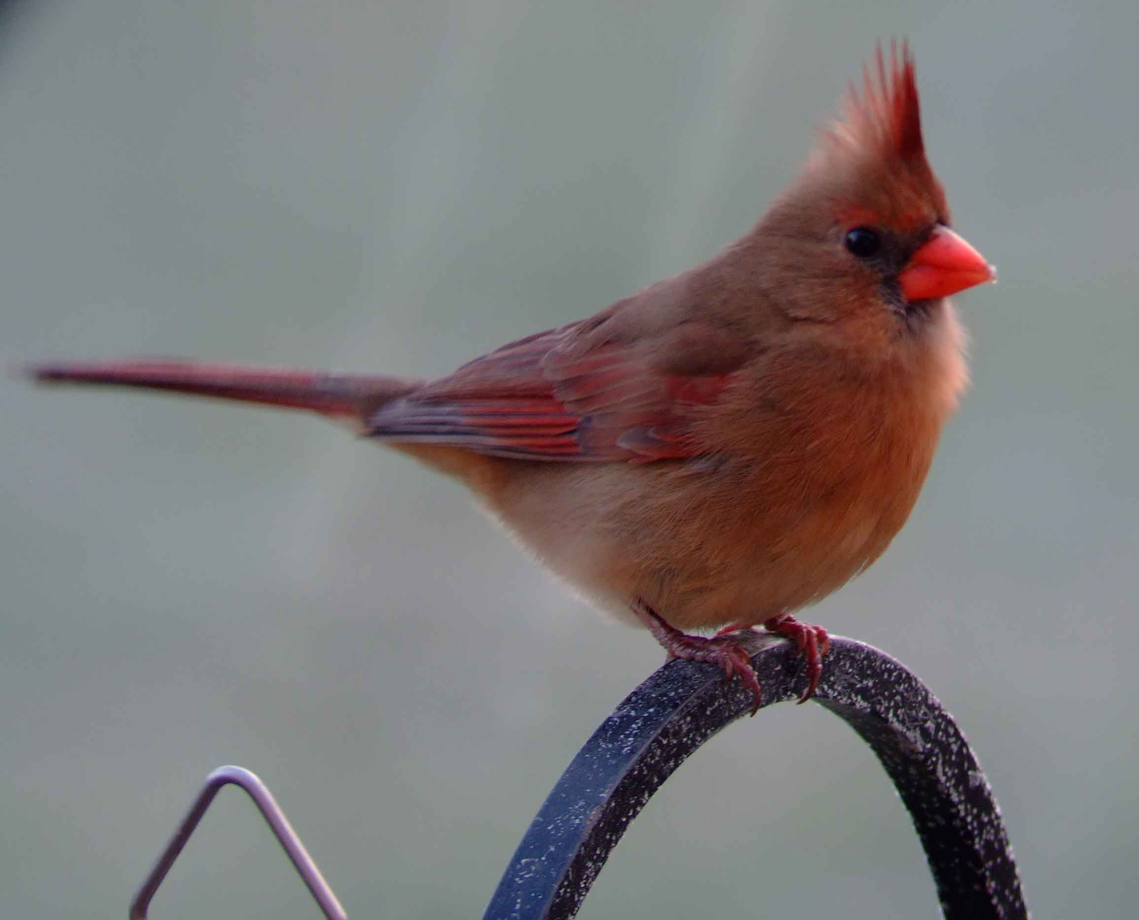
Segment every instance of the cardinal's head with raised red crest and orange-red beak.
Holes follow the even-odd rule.
[[[784,280],[773,299],[788,318],[845,328],[878,350],[911,349],[908,341],[952,325],[944,299],[995,279],[950,229],[904,46],[888,60],[879,49],[861,90],[851,86],[843,119],[822,132],[756,239]]]

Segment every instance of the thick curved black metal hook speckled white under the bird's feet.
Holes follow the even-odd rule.
[[[752,663],[763,705],[797,699],[794,646],[759,633]],[[831,637],[816,700],[874,749],[925,847],[948,920],[1027,918],[1000,811],[964,735],[926,686],[890,656]],[[518,845],[484,920],[572,918],[625,828],[708,738],[751,711],[739,681],[670,661],[634,690],[566,768]]]

